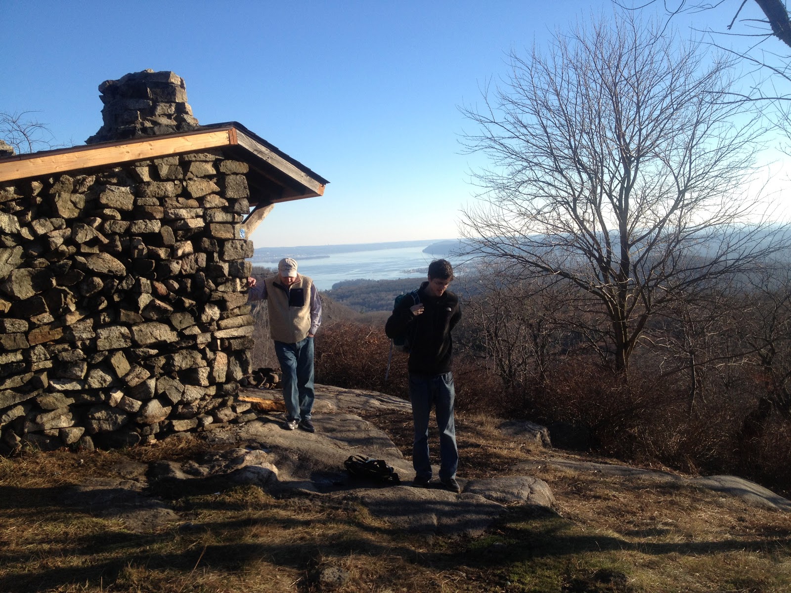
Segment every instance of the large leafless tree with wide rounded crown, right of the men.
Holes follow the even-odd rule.
[[[596,300],[619,372],[653,315],[788,239],[745,188],[761,130],[721,101],[731,62],[676,39],[634,13],[602,18],[547,53],[512,52],[509,78],[463,109],[478,124],[467,149],[493,163],[475,174],[465,235],[509,274]]]

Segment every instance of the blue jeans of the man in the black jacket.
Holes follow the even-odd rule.
[[[453,373],[446,372],[437,376],[409,376],[409,401],[412,403],[414,420],[414,444],[412,445],[412,466],[415,479],[431,478],[429,460],[429,416],[431,407],[437,415],[437,429],[440,432],[440,480],[443,482],[456,478],[459,465],[459,450],[456,448],[456,425],[453,421],[453,402],[456,391],[453,388]]]

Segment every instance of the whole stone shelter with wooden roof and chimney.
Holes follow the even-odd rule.
[[[146,443],[244,421],[256,225],[326,179],[184,80],[99,87],[87,145],[0,157],[0,453]],[[8,153],[4,153],[8,154]]]

